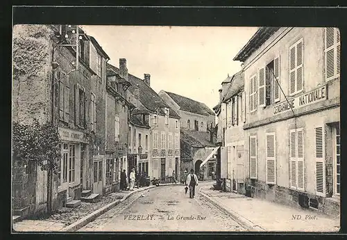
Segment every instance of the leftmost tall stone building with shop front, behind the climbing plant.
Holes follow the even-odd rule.
[[[12,120],[58,127],[62,159],[53,179],[53,208],[76,207],[93,187],[93,156],[105,150],[105,65],[107,54],[76,25],[16,25],[13,29]],[[77,61],[78,60],[78,61]],[[46,171],[33,166],[26,182],[31,200],[19,214],[45,210]],[[28,190],[13,182],[12,199]],[[23,189],[22,189],[23,190]],[[24,214],[25,215],[25,214]]]

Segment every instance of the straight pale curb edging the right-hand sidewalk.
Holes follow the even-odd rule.
[[[223,204],[221,204],[221,202],[217,202],[216,200],[214,200],[213,198],[208,196],[206,193],[203,193],[203,191],[201,189],[200,189],[199,193],[200,193],[200,195],[203,196],[203,198],[205,198],[209,202],[211,202],[212,205],[221,209],[224,213],[228,214],[235,222],[239,223],[240,225],[242,225],[242,227],[245,227],[247,230],[257,231],[257,232],[266,231],[262,227],[255,225],[252,221],[249,221],[247,218],[244,218],[244,216],[237,214],[235,211],[227,209],[227,207],[224,206]]]

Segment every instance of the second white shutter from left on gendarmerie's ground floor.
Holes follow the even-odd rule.
[[[276,184],[275,133],[266,133],[266,184]]]

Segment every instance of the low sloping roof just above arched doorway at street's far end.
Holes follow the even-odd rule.
[[[210,142],[210,132],[180,129],[180,139],[192,147],[214,147]]]

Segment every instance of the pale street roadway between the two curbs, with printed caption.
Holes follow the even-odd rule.
[[[199,187],[194,199],[189,193],[185,195],[184,186],[160,186],[136,193],[78,231],[245,231],[230,216],[200,198]]]

